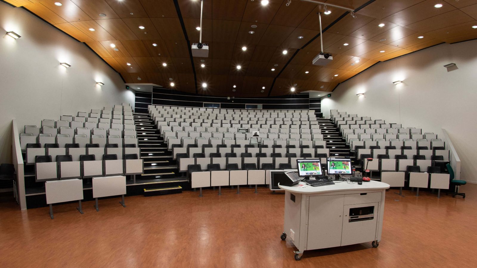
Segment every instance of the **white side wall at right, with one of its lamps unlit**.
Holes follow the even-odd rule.
[[[444,128],[462,161],[461,179],[477,182],[476,47],[476,40],[441,44],[380,62],[322,97],[323,116],[338,109],[423,132]],[[443,65],[451,62],[458,69],[447,72]]]

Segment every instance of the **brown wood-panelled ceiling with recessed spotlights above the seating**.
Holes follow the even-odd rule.
[[[270,88],[271,95],[283,95],[294,84],[298,92],[332,91],[376,62],[441,42],[477,38],[472,28],[477,25],[477,0],[327,0],[359,10],[356,19],[332,7],[331,14],[322,15],[327,29],[324,51],[334,59],[320,67],[311,64],[321,50],[320,38],[315,38],[320,6],[300,0],[288,7],[287,0],[270,0],[267,6],[260,0],[204,0],[202,40],[209,44],[209,57],[191,61],[187,41],[199,39],[200,0],[7,2],[85,42],[126,82],[168,87],[172,78],[177,90],[195,93],[197,82],[198,93],[222,96],[266,96]],[[443,6],[435,8],[436,4]]]

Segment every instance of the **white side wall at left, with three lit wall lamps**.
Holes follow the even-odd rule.
[[[14,31],[14,40],[5,35]],[[60,62],[72,67],[66,69]],[[104,82],[103,86],[96,82]],[[62,114],[131,103],[118,73],[86,45],[28,11],[0,2],[0,162],[11,163],[11,120],[19,128]]]

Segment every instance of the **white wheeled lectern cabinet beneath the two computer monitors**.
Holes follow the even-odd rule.
[[[285,222],[281,239],[289,239],[298,251],[340,247],[372,241],[379,245],[383,229],[383,182],[335,183],[327,186],[280,186],[285,190]]]

